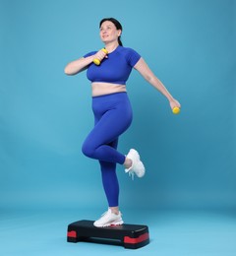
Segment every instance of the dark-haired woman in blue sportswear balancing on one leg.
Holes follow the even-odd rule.
[[[121,42],[122,26],[114,18],[103,19],[100,24],[100,38],[105,49],[92,51],[83,58],[70,62],[67,75],[76,75],[87,71],[91,81],[92,110],[94,128],[89,133],[82,151],[92,159],[99,160],[102,182],[108,201],[108,211],[94,222],[95,226],[123,224],[119,211],[119,183],[116,175],[116,163],[123,164],[125,171],[132,176],[145,175],[145,166],[139,153],[131,149],[127,156],[117,151],[118,138],[132,122],[132,108],[126,93],[126,81],[133,68],[169,100],[170,107],[180,107],[148,68],[145,60],[135,50],[123,47]],[[94,59],[100,65],[93,63]]]

